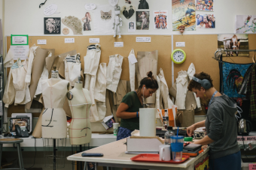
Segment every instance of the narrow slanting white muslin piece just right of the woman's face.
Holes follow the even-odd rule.
[[[169,97],[169,89],[168,89],[168,85],[167,85],[166,79],[164,77],[162,68],[160,68],[160,72],[158,74],[158,77],[161,81],[160,85],[159,85],[159,86],[161,86],[160,87],[161,88],[160,96],[163,98],[164,109],[170,109],[170,108],[172,108],[173,103],[172,103],[171,98]],[[160,101],[161,101],[161,98],[160,98]]]

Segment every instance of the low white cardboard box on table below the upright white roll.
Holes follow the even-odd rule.
[[[127,152],[158,152],[164,141],[160,137],[130,136],[127,138]]]

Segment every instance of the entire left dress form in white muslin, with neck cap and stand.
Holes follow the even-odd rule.
[[[44,163],[53,170],[65,167],[67,123],[63,104],[69,88],[69,81],[59,78],[53,66],[51,79],[42,82],[44,112],[42,115],[42,138]]]

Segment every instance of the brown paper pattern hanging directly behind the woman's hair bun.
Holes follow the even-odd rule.
[[[152,71],[153,76],[157,76],[157,61],[158,61],[158,51],[153,52],[137,52],[136,63],[136,76],[138,79],[138,85],[140,81],[147,77],[147,73]],[[152,94],[151,97],[148,97],[145,100],[147,104],[154,104],[156,101],[156,94]]]

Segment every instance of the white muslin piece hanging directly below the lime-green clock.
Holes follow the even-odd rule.
[[[186,109],[186,95],[187,95],[187,71],[181,70],[178,72],[178,78],[176,79],[177,95],[175,105],[178,109]]]

